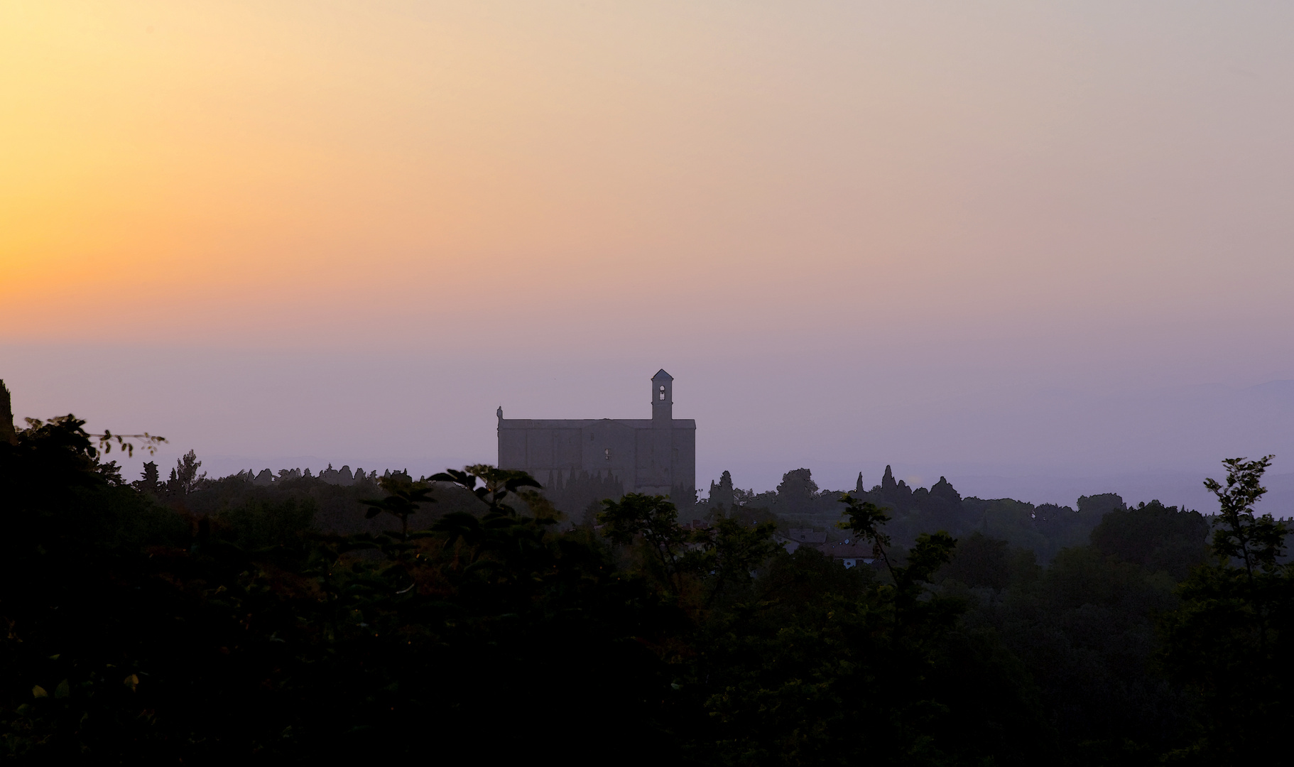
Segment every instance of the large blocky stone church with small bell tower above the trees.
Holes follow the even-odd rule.
[[[503,418],[498,466],[531,473],[558,508],[578,513],[625,493],[696,501],[696,422],[674,418],[674,379],[651,379],[651,418],[538,420]]]

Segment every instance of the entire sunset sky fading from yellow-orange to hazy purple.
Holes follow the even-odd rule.
[[[703,486],[1289,471],[1291,125],[1288,3],[0,0],[0,378],[230,467],[665,367]]]

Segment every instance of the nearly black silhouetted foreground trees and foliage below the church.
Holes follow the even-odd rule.
[[[124,481],[80,420],[32,423],[0,435],[0,754],[1271,758],[1294,723],[1294,590],[1282,524],[1253,513],[1266,467],[1227,462],[1211,520],[1113,508],[1046,567],[983,529],[905,551],[897,512],[850,494],[836,519],[876,559],[846,569],[787,554],[740,504],[694,528],[626,495],[572,526],[487,466],[389,475],[366,515],[334,503],[355,529],[327,533],[314,517],[339,490],[201,510]]]

